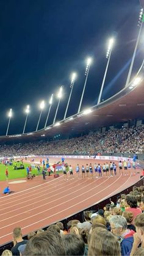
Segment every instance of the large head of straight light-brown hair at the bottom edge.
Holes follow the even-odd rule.
[[[93,230],[88,241],[88,255],[118,255],[120,256],[120,244],[117,238],[107,230],[98,228]]]

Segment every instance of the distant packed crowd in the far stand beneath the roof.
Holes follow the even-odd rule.
[[[90,133],[72,139],[1,145],[0,157],[15,155],[95,155],[96,153],[144,153],[144,128],[122,128]]]

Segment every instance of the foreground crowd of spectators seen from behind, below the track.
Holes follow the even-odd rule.
[[[30,232],[23,240],[21,228],[13,230],[12,250],[5,255],[144,255],[144,186],[134,186],[98,211],[84,211],[84,221],[62,222],[45,231]]]

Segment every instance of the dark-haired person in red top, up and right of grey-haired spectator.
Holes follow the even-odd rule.
[[[126,206],[128,206],[128,208],[126,208],[126,211],[131,211],[134,214],[134,219],[137,215],[142,213],[142,210],[137,207],[137,200],[134,196],[126,196]]]

